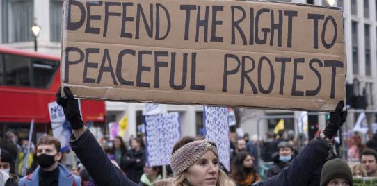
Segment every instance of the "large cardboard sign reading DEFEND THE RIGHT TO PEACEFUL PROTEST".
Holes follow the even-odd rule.
[[[340,8],[269,1],[65,0],[62,85],[77,98],[335,110]]]

